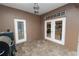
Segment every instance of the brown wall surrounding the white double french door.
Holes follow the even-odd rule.
[[[67,4],[55,10],[52,10],[41,16],[41,26],[42,26],[42,38],[44,39],[44,16],[51,15],[57,12],[62,12],[65,10],[66,12],[66,33],[65,33],[65,45],[64,47],[70,51],[76,51],[77,49],[77,39],[78,39],[78,8],[76,8],[75,4]],[[60,17],[58,17],[60,18]],[[49,18],[50,19],[50,18]]]

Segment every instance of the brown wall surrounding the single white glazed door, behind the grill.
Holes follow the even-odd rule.
[[[40,17],[14,8],[0,5],[0,31],[10,29],[14,32],[14,19],[25,19],[27,41],[40,39]]]

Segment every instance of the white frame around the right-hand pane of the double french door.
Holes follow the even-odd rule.
[[[55,39],[55,26],[56,26],[55,22],[56,21],[62,21],[62,37],[61,37],[60,41]],[[54,26],[53,27],[54,28],[54,31],[53,31],[54,37],[53,38],[54,39],[53,39],[53,41],[56,43],[59,43],[61,45],[64,45],[65,44],[65,33],[66,33],[66,17],[54,19],[53,22],[54,22],[54,25],[53,25]]]

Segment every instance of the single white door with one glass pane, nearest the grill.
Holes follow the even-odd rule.
[[[15,42],[16,44],[26,41],[26,21],[15,19]]]

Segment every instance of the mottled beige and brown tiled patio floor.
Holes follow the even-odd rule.
[[[19,45],[17,56],[75,56],[75,52],[69,52],[59,44],[48,40],[34,40]]]

